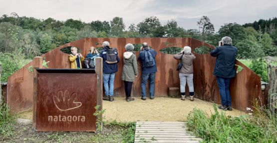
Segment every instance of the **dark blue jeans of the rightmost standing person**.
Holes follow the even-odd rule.
[[[219,86],[219,94],[221,96],[221,104],[231,106],[231,95],[229,89],[231,78],[217,76],[217,81]]]

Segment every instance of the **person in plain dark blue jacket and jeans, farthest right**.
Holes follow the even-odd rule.
[[[230,95],[230,81],[236,76],[236,56],[238,49],[232,46],[232,39],[230,37],[223,37],[219,42],[219,47],[211,52],[211,56],[216,57],[216,65],[214,75],[217,76],[219,85],[219,93],[221,96],[221,106],[219,109],[224,111],[232,110],[231,95]]]

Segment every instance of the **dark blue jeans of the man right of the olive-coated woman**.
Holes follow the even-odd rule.
[[[150,79],[150,97],[154,97],[155,95],[155,76],[156,72],[154,73],[142,73],[142,80],[141,80],[141,96],[146,97],[146,84],[148,79]]]

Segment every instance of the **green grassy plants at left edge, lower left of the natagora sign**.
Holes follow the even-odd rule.
[[[13,135],[11,123],[14,123],[14,117],[10,115],[7,104],[0,104],[0,135],[4,137]]]

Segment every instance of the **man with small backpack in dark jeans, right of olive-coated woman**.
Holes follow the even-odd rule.
[[[152,67],[146,67],[145,64],[145,52],[149,51],[154,58],[155,65]],[[141,80],[141,99],[146,100],[146,84],[148,79],[150,79],[150,99],[155,97],[155,76],[157,72],[156,57],[157,52],[148,47],[148,44],[145,42],[142,44],[141,51],[139,52],[138,60],[141,61],[142,65],[142,80]]]

